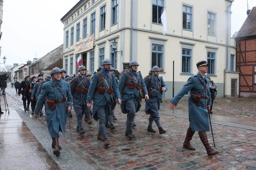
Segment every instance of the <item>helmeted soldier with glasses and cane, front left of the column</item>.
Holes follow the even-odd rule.
[[[40,108],[44,103],[45,97],[48,98],[48,107],[46,109],[47,126],[52,138],[52,147],[55,148],[53,153],[60,155],[59,131],[65,137],[65,126],[68,112],[72,107],[72,95],[70,93],[70,85],[61,79],[61,70],[55,67],[51,71],[52,79],[43,84],[35,108],[34,117],[37,119]]]

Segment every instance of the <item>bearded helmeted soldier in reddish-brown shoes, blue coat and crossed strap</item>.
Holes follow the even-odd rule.
[[[105,117],[111,112],[111,105],[114,103],[113,93],[117,98],[117,103],[121,104],[120,93],[113,74],[109,73],[111,61],[105,59],[102,61],[100,72],[93,74],[87,96],[88,109],[92,106],[93,100],[93,118],[99,120],[98,140],[104,141],[104,146],[110,145],[105,127]]]

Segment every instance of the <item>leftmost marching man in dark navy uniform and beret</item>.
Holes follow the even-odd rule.
[[[20,96],[20,93],[22,94],[22,101],[23,101],[24,111],[29,110],[29,104],[30,104],[29,96],[27,97],[25,95],[25,90],[27,88],[28,83],[29,83],[29,76],[26,76],[24,78],[24,81],[22,81],[20,83],[19,90],[18,90],[18,95]],[[26,103],[26,101],[27,101],[27,103]]]

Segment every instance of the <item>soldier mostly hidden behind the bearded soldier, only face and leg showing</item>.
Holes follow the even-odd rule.
[[[114,71],[115,71],[115,69],[113,67],[111,67],[110,70],[109,70],[110,74],[113,74]],[[113,74],[113,76],[115,77],[114,74]],[[118,80],[117,80],[116,77],[115,77],[115,81],[116,81],[116,84],[118,85]],[[111,106],[111,113],[109,114],[108,117],[106,117],[106,122],[105,122],[105,126],[110,128],[110,130],[115,129],[115,126],[113,125],[113,120],[114,120],[114,117],[115,117],[115,115],[113,116],[113,114],[114,114],[114,109],[115,109],[115,105],[116,105],[116,98],[115,98],[114,94],[113,94],[113,99],[114,99],[114,103]],[[113,116],[113,118],[112,118],[112,116]],[[115,118],[115,120],[116,120],[116,118]]]

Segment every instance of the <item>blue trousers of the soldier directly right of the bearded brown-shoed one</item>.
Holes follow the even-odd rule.
[[[136,108],[138,107],[138,100],[136,97],[125,101],[124,107],[127,111],[127,119],[126,119],[126,131],[132,132],[132,126],[134,124],[134,118],[136,113]]]

